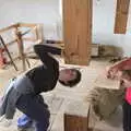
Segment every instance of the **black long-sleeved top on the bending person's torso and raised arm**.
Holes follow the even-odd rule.
[[[34,50],[41,60],[43,64],[36,67],[26,73],[26,76],[34,85],[35,94],[51,91],[59,78],[59,63],[50,53],[61,51],[59,48],[47,45],[35,45]]]

